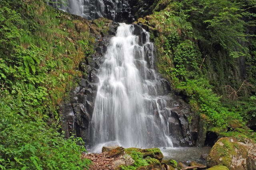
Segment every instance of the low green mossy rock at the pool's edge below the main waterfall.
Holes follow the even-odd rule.
[[[155,158],[160,161],[164,158],[164,155],[158,148],[151,148],[151,149],[128,148],[128,149],[125,149],[125,152],[127,154],[131,154],[132,151],[141,152],[143,154],[143,158],[146,158],[149,156],[150,158]]]

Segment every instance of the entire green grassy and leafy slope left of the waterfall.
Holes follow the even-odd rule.
[[[82,139],[57,132],[57,104],[82,76],[76,65],[93,53],[88,26],[80,22],[80,34],[71,15],[41,0],[0,4],[0,169],[88,169]]]

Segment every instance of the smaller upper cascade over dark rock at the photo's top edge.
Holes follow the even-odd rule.
[[[129,0],[52,0],[48,5],[87,20],[108,18],[113,21],[132,22]]]

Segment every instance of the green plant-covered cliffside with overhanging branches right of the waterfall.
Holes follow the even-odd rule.
[[[248,120],[255,115],[252,99],[240,92],[235,108],[223,88],[240,87],[245,66],[238,67],[237,62],[245,58],[251,83],[246,92],[255,92],[252,30],[256,15],[250,10],[255,5],[253,0],[164,0],[147,21],[158,31],[159,72],[187,96],[192,109],[209,124],[223,128],[228,119]],[[165,9],[159,11],[160,6]]]

